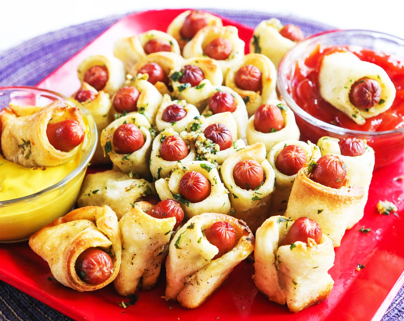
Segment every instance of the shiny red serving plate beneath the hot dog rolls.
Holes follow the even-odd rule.
[[[79,88],[76,69],[89,55],[112,54],[112,44],[119,37],[131,36],[149,29],[165,31],[181,10],[153,10],[129,15],[86,48],[64,63],[38,84],[39,87],[72,94]],[[246,44],[252,28],[223,19],[224,25],[238,27]],[[133,306],[122,308],[112,285],[93,292],[77,292],[53,279],[48,264],[36,255],[27,242],[0,245],[0,279],[52,306],[76,320],[262,320],[281,317],[282,321],[306,320],[380,320],[404,283],[404,221],[398,216],[379,215],[376,204],[390,200],[398,205],[404,197],[404,159],[376,170],[370,185],[364,218],[347,231],[341,247],[335,248],[335,265],[329,273],[335,281],[329,298],[299,313],[270,302],[258,292],[251,279],[251,262],[242,262],[223,285],[202,306],[187,310],[177,302],[166,302],[164,271],[154,290],[139,291]],[[371,228],[366,235],[360,227]],[[356,271],[357,264],[366,268]]]

